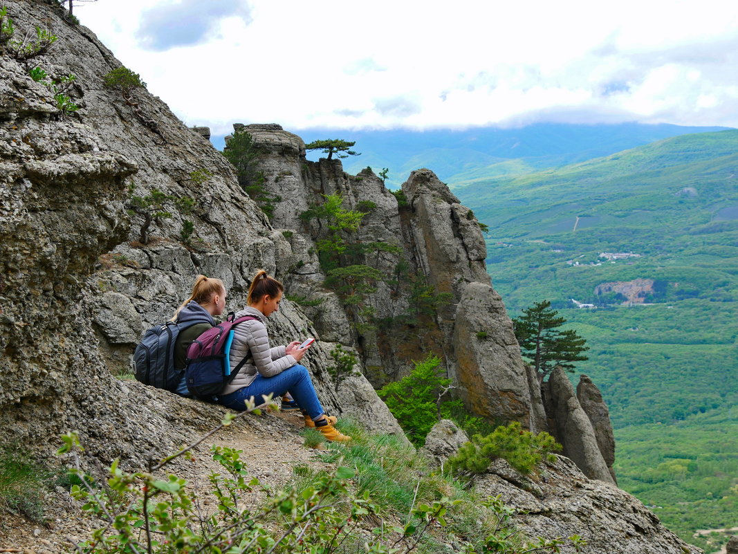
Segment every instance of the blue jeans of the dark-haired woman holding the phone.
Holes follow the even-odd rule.
[[[218,404],[242,412],[245,409],[244,401],[252,396],[258,405],[261,404],[262,395],[272,394],[273,398],[277,398],[287,391],[292,394],[292,398],[297,401],[297,404],[300,404],[301,409],[308,412],[311,418],[316,419],[325,413],[317,394],[315,394],[310,373],[308,373],[306,367],[300,364],[288,367],[274,377],[256,375],[254,382],[248,387],[231,392],[230,395],[218,396]]]

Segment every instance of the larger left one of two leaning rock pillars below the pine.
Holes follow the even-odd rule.
[[[576,399],[574,387],[565,371],[556,367],[546,385],[546,413],[553,419],[549,428],[564,447],[564,455],[571,458],[590,479],[614,485],[615,480],[602,457],[592,423]]]

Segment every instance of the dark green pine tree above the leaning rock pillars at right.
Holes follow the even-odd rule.
[[[559,330],[566,319],[557,317],[551,309],[551,302],[537,302],[532,308],[523,310],[523,316],[512,320],[515,337],[520,344],[520,353],[536,368],[541,381],[561,366],[574,373],[573,361],[587,360],[582,352],[590,348],[575,330]]]

